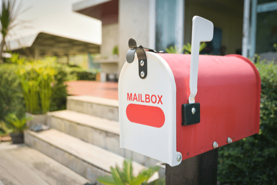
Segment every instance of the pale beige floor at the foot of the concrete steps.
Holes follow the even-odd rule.
[[[85,185],[88,182],[35,149],[0,143],[0,185]]]

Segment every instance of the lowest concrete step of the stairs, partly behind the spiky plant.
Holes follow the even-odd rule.
[[[117,165],[122,168],[122,156],[57,130],[50,129],[39,133],[26,130],[24,135],[27,145],[50,156],[92,183],[97,183],[98,176],[109,175],[110,167]],[[133,162],[134,175],[144,168],[146,167]],[[154,174],[152,180],[157,178],[158,173]]]

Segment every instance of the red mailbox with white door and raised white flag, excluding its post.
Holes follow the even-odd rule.
[[[191,55],[129,40],[119,78],[121,148],[173,167],[214,141],[217,148],[259,133],[259,72],[241,55],[199,56],[199,43],[212,37],[212,22],[195,16]]]

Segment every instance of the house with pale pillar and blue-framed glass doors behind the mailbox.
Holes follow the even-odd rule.
[[[102,21],[100,52],[107,56],[97,61],[102,77],[119,75],[129,38],[155,50],[191,43],[196,15],[214,24],[214,38],[202,53],[245,57],[262,53],[266,58],[277,42],[277,1],[273,0],[82,0],[72,8]],[[116,45],[118,59],[111,57]]]

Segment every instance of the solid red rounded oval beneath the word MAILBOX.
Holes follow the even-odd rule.
[[[149,105],[129,104],[126,108],[129,121],[142,125],[160,128],[165,122],[164,112],[161,108]]]

